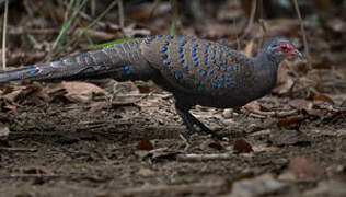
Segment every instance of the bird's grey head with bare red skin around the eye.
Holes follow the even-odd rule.
[[[263,46],[263,50],[276,62],[291,57],[302,57],[301,53],[290,40],[281,37],[274,37],[267,40]]]

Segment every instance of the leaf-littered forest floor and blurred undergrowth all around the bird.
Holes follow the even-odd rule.
[[[7,69],[170,33],[304,58],[246,106],[191,111],[222,140],[187,135],[151,81],[1,83],[0,197],[346,196],[345,0],[298,1],[304,31],[290,0],[9,1]]]

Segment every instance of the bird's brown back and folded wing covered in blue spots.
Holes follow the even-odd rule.
[[[141,51],[174,90],[195,94],[195,100],[200,96],[209,106],[214,106],[212,97],[222,105],[232,97],[246,96],[245,89],[252,86],[253,60],[218,43],[159,35],[143,39]]]

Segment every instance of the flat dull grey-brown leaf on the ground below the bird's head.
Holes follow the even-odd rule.
[[[311,144],[311,137],[297,130],[278,130],[270,134],[270,142],[275,146]]]

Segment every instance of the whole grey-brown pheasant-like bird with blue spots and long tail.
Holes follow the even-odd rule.
[[[152,80],[173,94],[187,134],[219,137],[189,113],[195,105],[232,108],[260,99],[275,86],[279,63],[301,53],[287,38],[265,42],[254,58],[216,42],[155,35],[82,51],[60,60],[0,72],[0,83],[15,80]]]

